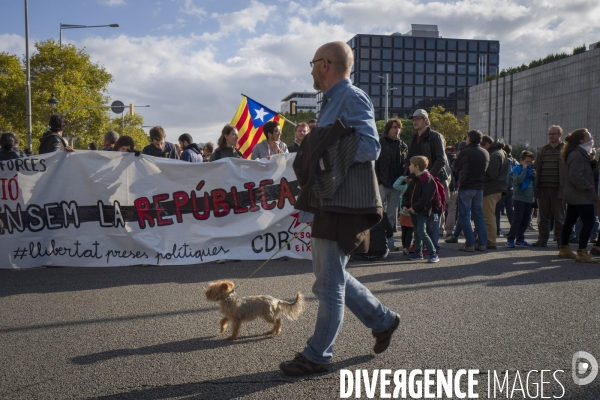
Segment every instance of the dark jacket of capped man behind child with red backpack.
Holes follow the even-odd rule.
[[[418,136],[417,133],[413,135],[413,138],[408,145],[406,160],[410,160],[410,158],[414,156],[427,157],[429,160],[427,169],[431,175],[437,176],[440,179],[440,182],[445,181],[447,176],[445,176],[445,173],[442,173],[442,170],[446,164],[446,152],[444,151],[444,140],[442,139],[442,135],[428,127],[425,132],[423,132],[420,142],[417,142]],[[406,164],[404,175],[408,176],[409,163],[407,162]]]

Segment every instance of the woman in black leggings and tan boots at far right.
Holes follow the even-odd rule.
[[[599,262],[587,252],[594,224],[594,203],[598,199],[594,185],[594,172],[590,162],[593,160],[594,139],[587,129],[577,129],[565,138],[561,159],[565,164],[565,183],[563,197],[567,203],[565,223],[561,232],[559,257],[574,258],[579,262]],[[569,236],[577,218],[583,226],[579,234],[579,249],[574,254],[569,247]]]

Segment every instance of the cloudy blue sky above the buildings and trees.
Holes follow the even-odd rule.
[[[23,1],[3,0],[0,51],[25,54]],[[113,75],[112,100],[149,104],[167,139],[215,140],[244,93],[273,109],[312,90],[308,62],[332,40],[436,24],[447,38],[500,41],[501,68],[600,41],[598,0],[29,0],[30,40],[63,30]]]

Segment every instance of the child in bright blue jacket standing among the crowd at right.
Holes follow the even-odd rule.
[[[513,221],[508,232],[506,247],[532,247],[525,241],[525,231],[531,221],[531,208],[533,205],[533,153],[523,150],[519,157],[519,164],[510,170],[513,182]],[[515,242],[515,238],[517,239]]]

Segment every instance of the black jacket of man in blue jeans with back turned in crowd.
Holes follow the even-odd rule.
[[[490,154],[479,144],[471,143],[458,153],[452,168],[458,177],[458,190],[483,190]]]

